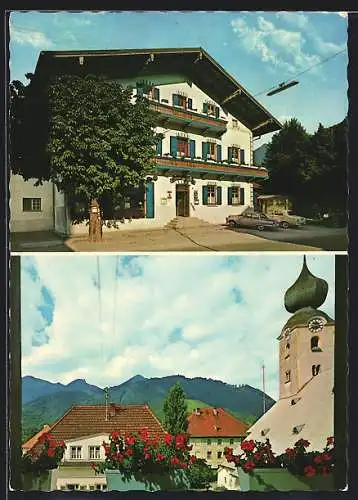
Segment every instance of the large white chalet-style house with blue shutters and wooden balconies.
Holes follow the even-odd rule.
[[[133,99],[145,95],[157,112],[163,139],[155,167],[146,187],[110,214],[122,221],[120,230],[163,227],[176,217],[223,224],[253,206],[253,186],[268,176],[254,165],[254,140],[281,124],[204,49],[45,51],[30,85],[43,88],[64,74],[115,79],[133,89]],[[88,211],[70,207],[50,182],[35,187],[33,180],[10,178],[12,232],[86,233],[85,223],[72,224],[74,208]]]

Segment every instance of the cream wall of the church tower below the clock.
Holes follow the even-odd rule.
[[[319,314],[317,314],[319,316]],[[319,338],[321,351],[311,350],[311,338]],[[287,349],[289,343],[289,349]],[[280,397],[296,394],[310,379],[312,366],[320,365],[320,372],[332,370],[334,363],[334,325],[312,333],[307,326],[295,328],[288,338],[280,340]],[[290,381],[286,381],[286,371]],[[318,375],[319,376],[319,375]]]

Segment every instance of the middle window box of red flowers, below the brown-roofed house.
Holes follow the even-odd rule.
[[[190,487],[186,470],[195,463],[188,436],[153,436],[144,428],[138,433],[112,432],[103,442],[105,460],[93,465],[104,473],[108,490],[185,490]]]

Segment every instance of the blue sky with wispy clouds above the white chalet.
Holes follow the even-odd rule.
[[[345,12],[13,11],[10,78],[26,82],[42,50],[201,46],[257,95],[346,45]],[[320,122],[330,126],[347,114],[347,62],[345,51],[303,74],[299,85],[257,98],[280,121],[296,117],[313,133]]]

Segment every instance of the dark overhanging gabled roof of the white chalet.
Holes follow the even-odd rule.
[[[80,63],[81,61],[81,63]],[[61,74],[108,78],[180,74],[248,127],[254,136],[274,132],[281,123],[203,48],[42,51],[32,83]]]

